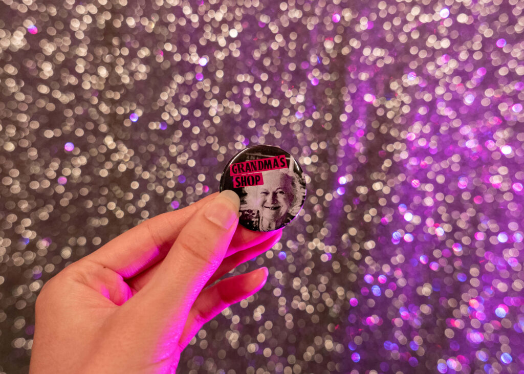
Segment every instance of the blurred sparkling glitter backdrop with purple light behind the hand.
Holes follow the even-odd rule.
[[[43,283],[268,144],[307,201],[180,373],[522,373],[523,8],[2,0],[0,371]]]

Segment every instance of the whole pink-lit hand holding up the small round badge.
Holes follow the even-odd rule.
[[[281,231],[238,226],[238,196],[164,213],[72,263],[42,288],[30,373],[170,373],[202,325],[258,291],[266,268],[208,285]]]

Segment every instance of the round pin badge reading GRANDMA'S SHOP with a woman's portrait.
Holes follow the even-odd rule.
[[[297,160],[278,147],[253,146],[227,163],[220,191],[240,197],[239,224],[253,231],[286,226],[305,201],[305,179]]]

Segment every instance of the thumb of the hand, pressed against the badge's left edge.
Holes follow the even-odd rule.
[[[226,190],[196,211],[140,290],[140,304],[163,325],[158,326],[163,332],[171,326],[171,338],[184,327],[193,302],[222,262],[238,224],[239,205],[237,194]]]

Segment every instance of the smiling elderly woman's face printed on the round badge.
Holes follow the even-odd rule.
[[[281,172],[267,173],[257,196],[261,216],[269,221],[278,221],[288,213],[293,196],[289,175]]]

